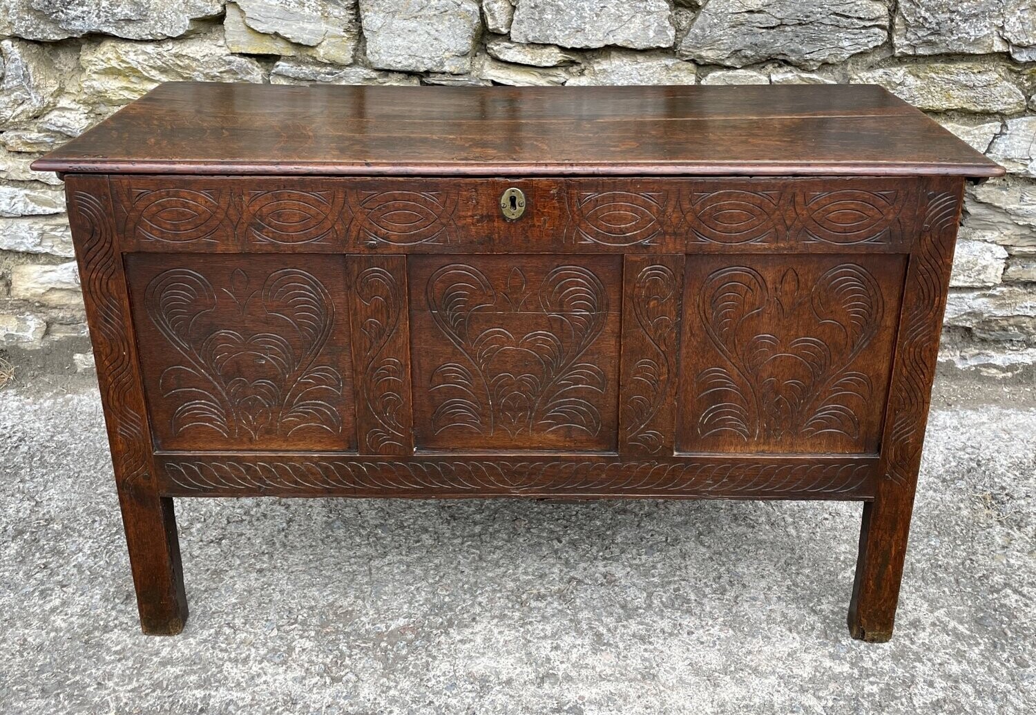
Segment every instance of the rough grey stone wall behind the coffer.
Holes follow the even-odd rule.
[[[4,0],[0,37],[0,347],[84,344],[60,181],[29,162],[165,80],[854,82],[1007,167],[969,189],[944,355],[1036,360],[1036,0]]]

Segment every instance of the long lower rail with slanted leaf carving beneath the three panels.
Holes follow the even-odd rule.
[[[869,500],[876,457],[370,458],[157,454],[170,496],[552,496]]]

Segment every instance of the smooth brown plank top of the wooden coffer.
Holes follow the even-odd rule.
[[[872,85],[172,82],[33,168],[354,176],[1004,173]]]

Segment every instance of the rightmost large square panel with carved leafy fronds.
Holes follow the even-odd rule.
[[[902,257],[716,257],[687,270],[683,450],[877,450]]]

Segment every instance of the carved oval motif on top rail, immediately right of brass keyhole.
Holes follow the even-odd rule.
[[[668,218],[668,192],[571,191],[566,240],[603,246],[652,246]]]

